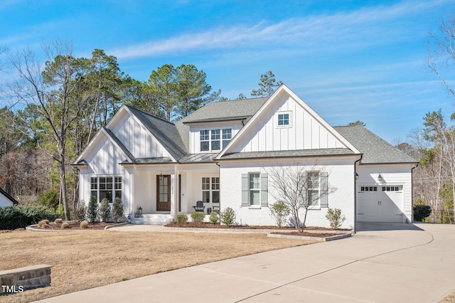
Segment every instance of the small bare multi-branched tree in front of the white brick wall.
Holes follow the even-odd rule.
[[[269,182],[274,188],[270,194],[277,201],[284,203],[291,209],[296,228],[303,233],[309,208],[326,206],[327,197],[336,191],[328,187],[328,173],[319,166],[304,166],[299,163],[291,166],[272,166],[265,169]],[[301,221],[301,210],[304,210]]]

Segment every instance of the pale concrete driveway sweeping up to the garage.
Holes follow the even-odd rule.
[[[41,302],[438,302],[455,292],[455,225],[358,228],[362,231],[353,238],[187,267]]]

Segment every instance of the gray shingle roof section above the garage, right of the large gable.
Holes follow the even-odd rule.
[[[362,125],[333,128],[363,153],[362,164],[418,163]]]

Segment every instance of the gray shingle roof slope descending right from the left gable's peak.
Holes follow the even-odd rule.
[[[147,114],[134,107],[127,106],[134,116],[144,124],[146,129],[163,145],[163,147],[171,154],[173,159],[178,161],[183,156],[186,156],[187,149],[185,144],[180,137],[180,134],[171,122],[156,117],[154,115]]]

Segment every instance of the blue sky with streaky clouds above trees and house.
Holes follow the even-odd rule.
[[[193,64],[230,99],[249,97],[272,70],[329,124],[360,119],[396,143],[426,112],[454,109],[425,45],[454,9],[444,0],[1,0],[0,46],[40,55],[43,39],[70,40],[74,55],[103,49],[137,80]]]

